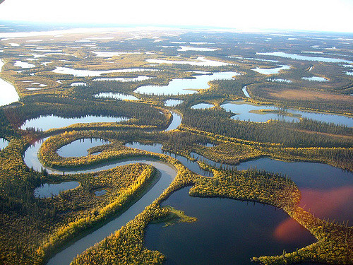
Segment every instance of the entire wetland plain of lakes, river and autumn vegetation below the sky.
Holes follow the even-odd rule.
[[[0,263],[352,261],[351,40],[36,34],[0,43]]]

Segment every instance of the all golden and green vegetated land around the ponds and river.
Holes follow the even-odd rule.
[[[255,105],[273,104],[278,107],[276,113],[286,115],[292,115],[287,110],[294,108],[352,117],[352,77],[342,74],[340,65],[289,59],[282,59],[280,63],[290,65],[290,70],[268,76],[256,73],[251,69],[258,66],[270,69],[277,64],[274,61],[249,58],[249,54],[255,54],[260,45],[249,44],[249,36],[239,40],[237,47],[234,47],[234,43],[229,41],[234,38],[233,35],[215,35],[217,52],[198,54],[189,51],[185,54],[181,52],[180,57],[177,57],[177,47],[164,49],[156,45],[158,42],[154,42],[155,35],[162,37],[163,41],[179,41],[178,37],[181,36],[187,42],[193,40],[193,35],[167,37],[163,33],[153,33],[149,35],[150,38],[141,40],[128,40],[126,37],[131,37],[130,34],[117,33],[115,40],[97,40],[97,44],[104,49],[123,52],[109,59],[97,57],[88,47],[73,49],[68,46],[68,41],[76,42],[83,35],[71,35],[68,40],[45,39],[36,45],[42,49],[61,47],[62,54],[42,54],[42,57],[37,58],[32,58],[34,55],[32,48],[27,46],[27,39],[18,39],[19,47],[11,47],[7,40],[1,41],[4,66],[0,76],[13,83],[20,102],[0,107],[0,138],[9,141],[8,146],[0,150],[0,264],[45,264],[62,247],[109,222],[109,218],[123,213],[158,179],[157,170],[142,163],[72,175],[68,172],[49,174],[45,167],[70,171],[136,157],[154,158],[172,165],[176,171],[175,179],[150,206],[123,227],[116,228],[112,235],[78,255],[72,264],[162,264],[166,259],[163,253],[144,247],[145,228],[155,222],[172,225],[196,221],[196,218],[186,216],[183,209],[161,206],[162,201],[183,187],[191,187],[191,196],[226,197],[270,204],[285,211],[316,237],[317,242],[296,252],[283,252],[276,257],[253,257],[252,261],[266,265],[303,261],[352,264],[353,228],[348,224],[321,220],[304,211],[298,206],[300,190],[287,177],[258,170],[223,170],[198,160],[204,170],[213,173],[213,177],[205,177],[192,172],[179,160],[172,158],[172,155],[126,147],[126,143],[133,141],[159,143],[162,151],[183,155],[193,162],[198,155],[225,165],[270,157],[286,161],[325,163],[352,172],[352,126],[311,119],[300,119],[299,122],[244,122],[230,119],[233,114],[220,107],[229,100],[246,100]],[[200,37],[197,35],[196,40],[200,40]],[[256,38],[253,40],[258,41]],[[285,42],[277,41],[285,45]],[[300,46],[301,49],[311,48],[309,40],[307,42]],[[76,42],[76,45],[80,45],[80,42]],[[124,54],[131,49],[133,52],[138,49],[139,52]],[[148,54],[145,51],[152,52]],[[199,56],[228,64],[217,67],[150,65],[147,61],[197,61]],[[31,62],[35,67],[20,69],[13,64],[18,59],[34,59]],[[54,73],[56,67],[91,71],[138,68],[140,71],[116,71],[103,73],[100,77],[147,76],[148,79],[133,82],[95,81],[97,76]],[[165,86],[175,78],[193,79],[197,75],[217,71],[237,71],[241,75],[231,80],[210,81],[209,89],[198,90],[198,93],[191,95],[156,96],[133,92],[139,86]],[[325,76],[330,82],[319,86],[301,80],[301,76],[311,75]],[[274,77],[286,78],[292,82],[274,83],[270,81]],[[76,82],[85,85],[71,86]],[[244,95],[244,86],[247,86],[251,98]],[[136,96],[138,100],[95,98],[97,93],[102,92],[126,93]],[[164,101],[168,99],[183,102],[177,107],[165,107]],[[210,110],[191,109],[191,106],[199,102],[209,102],[215,107]],[[169,110],[181,114],[183,120],[178,129],[163,131],[172,122]],[[268,111],[258,111],[265,112]],[[45,115],[67,118],[94,115],[97,122],[72,124],[47,131],[37,128],[20,129],[25,121]],[[99,119],[102,116],[126,117],[126,120],[102,123]],[[23,155],[35,141],[46,137],[48,139],[40,143],[38,153],[43,168],[36,171],[25,164]],[[109,143],[90,148],[88,155],[79,158],[66,158],[57,153],[59,148],[79,139],[104,139]],[[34,196],[35,189],[42,184],[66,181],[76,181],[80,185],[60,192],[57,196]],[[107,193],[96,196],[95,192],[101,189]]]

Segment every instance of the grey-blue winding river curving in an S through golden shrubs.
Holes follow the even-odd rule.
[[[177,126],[181,124],[181,116],[175,112],[172,112],[173,119],[172,123],[169,124],[166,131],[170,131],[172,129],[176,129]],[[41,146],[41,143],[46,139],[41,139],[36,143],[32,144],[26,151],[24,155],[25,164],[28,167],[33,167],[35,170],[40,170],[42,167],[42,163],[38,159],[37,153]],[[65,147],[65,146],[64,146]],[[58,264],[70,264],[70,262],[81,252],[88,249],[92,245],[95,245],[96,242],[100,242],[112,234],[112,232],[119,230],[122,225],[125,225],[129,220],[133,219],[138,213],[141,213],[143,209],[152,204],[152,202],[157,199],[160,194],[169,187],[169,184],[172,183],[172,180],[177,175],[177,170],[167,163],[162,163],[161,161],[152,159],[152,158],[133,158],[128,160],[118,160],[114,163],[97,165],[96,167],[86,168],[85,170],[66,170],[66,172],[71,174],[76,174],[79,172],[95,172],[100,170],[106,170],[109,168],[113,168],[119,165],[128,165],[131,163],[146,163],[154,166],[160,172],[159,181],[151,187],[148,192],[146,192],[138,201],[136,201],[133,206],[128,208],[124,213],[121,213],[120,216],[117,216],[109,223],[103,225],[101,228],[98,228],[94,232],[86,235],[85,237],[73,242],[72,245],[69,245],[64,250],[56,254],[52,259],[49,259],[47,264],[58,265]],[[59,173],[61,170],[54,170],[51,168],[45,167],[49,173]]]

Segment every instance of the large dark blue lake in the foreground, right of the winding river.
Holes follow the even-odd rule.
[[[251,257],[282,254],[315,242],[287,214],[273,206],[232,199],[196,198],[189,188],[175,192],[163,206],[198,218],[195,223],[148,225],[145,246],[167,257],[166,264],[251,264]],[[295,234],[293,234],[295,232]]]

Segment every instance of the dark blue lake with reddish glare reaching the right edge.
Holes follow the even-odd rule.
[[[198,160],[224,167],[208,158],[191,153]],[[277,172],[290,177],[300,189],[300,206],[315,213],[319,218],[330,218],[340,222],[352,220],[353,173],[338,167],[321,163],[285,162],[271,158],[258,158],[237,166],[238,170],[257,168],[268,172]]]

